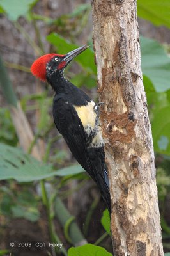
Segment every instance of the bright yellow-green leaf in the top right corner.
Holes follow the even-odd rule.
[[[156,26],[167,26],[170,28],[170,2],[169,0],[138,0],[137,14],[139,17],[150,20]]]

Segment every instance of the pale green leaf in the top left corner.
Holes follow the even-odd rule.
[[[26,15],[34,3],[36,3],[35,0],[0,0],[1,8],[3,8],[12,21]]]

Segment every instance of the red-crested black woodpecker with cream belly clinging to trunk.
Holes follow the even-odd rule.
[[[104,141],[100,129],[100,105],[95,104],[81,89],[68,81],[63,72],[75,56],[88,48],[79,47],[65,55],[45,54],[35,60],[31,72],[50,84],[54,90],[52,113],[54,123],[70,151],[97,183],[111,212],[109,179],[105,164]]]

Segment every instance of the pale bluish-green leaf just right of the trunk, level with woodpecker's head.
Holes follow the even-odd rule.
[[[170,58],[157,41],[141,36],[141,64],[157,92],[170,89]]]

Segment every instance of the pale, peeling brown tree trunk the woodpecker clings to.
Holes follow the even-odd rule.
[[[135,0],[93,0],[100,120],[115,255],[163,255]]]

